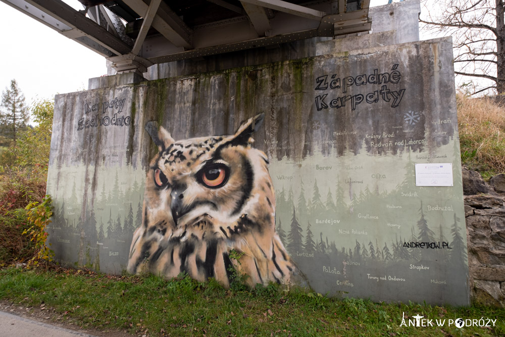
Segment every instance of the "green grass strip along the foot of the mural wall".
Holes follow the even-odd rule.
[[[505,311],[489,307],[439,307],[328,299],[275,285],[226,290],[212,279],[166,281],[145,275],[111,276],[89,271],[0,270],[0,300],[46,309],[53,320],[132,334],[255,336],[494,336],[505,335]],[[54,309],[54,311],[53,311]],[[420,314],[434,327],[399,326]],[[435,319],[497,319],[496,326],[443,327]]]

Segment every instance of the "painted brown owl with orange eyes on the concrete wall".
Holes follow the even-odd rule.
[[[146,126],[159,153],[147,172],[128,272],[166,278],[186,272],[224,286],[233,273],[246,274],[250,286],[298,277],[275,231],[268,158],[251,147],[263,117],[246,120],[232,135],[179,141],[163,127]]]

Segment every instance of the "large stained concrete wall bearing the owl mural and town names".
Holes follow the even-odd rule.
[[[220,275],[226,284],[227,260],[207,256],[224,249],[218,255],[224,258],[231,248],[254,247],[243,242],[268,246],[279,240],[277,248],[261,250],[268,261],[258,273],[267,275],[261,270],[271,263],[272,274],[258,278],[256,269],[246,269],[249,279],[287,282],[287,273],[277,268],[293,263],[298,284],[332,296],[468,304],[451,49],[450,39],[435,39],[137,84],[109,79],[118,85],[58,95],[48,173],[56,207],[49,242],[57,259],[114,273],[133,263],[134,271],[141,266],[166,277],[179,271],[197,279]],[[203,233],[189,235],[174,220],[169,192],[179,180],[167,187],[156,170],[171,177],[176,173],[167,165],[174,162],[184,177],[194,175],[190,191],[201,191],[200,157],[189,158],[195,151],[213,153],[214,145],[236,137],[241,121],[259,113],[264,122],[252,135],[254,148],[267,155],[271,182],[256,184],[253,177],[266,177],[258,173],[265,161],[247,159],[249,166],[240,167],[255,170],[233,186],[251,188],[241,191],[245,199],[230,203],[243,200],[272,210],[275,205],[275,219],[267,214],[260,225],[259,209],[230,214],[237,219],[212,231],[225,245],[207,255]],[[164,148],[172,140],[155,146],[148,121],[171,133],[180,154]],[[157,137],[169,138],[164,132]],[[192,137],[204,138],[186,140]],[[252,158],[249,150],[240,151],[247,151],[240,160]],[[149,164],[158,155],[163,160]],[[452,186],[416,185],[415,164],[434,163],[451,165]],[[275,197],[266,195],[272,188]],[[219,201],[202,199],[207,195]],[[217,209],[226,195],[209,190],[198,196],[198,205]],[[202,216],[209,212],[212,219],[222,218],[213,207]],[[245,226],[244,219],[269,230],[249,237],[254,226]],[[159,237],[151,240],[153,235]],[[229,263],[240,270],[236,261]]]

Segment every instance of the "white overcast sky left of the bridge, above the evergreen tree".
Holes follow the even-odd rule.
[[[82,9],[77,0],[64,0]],[[395,1],[396,2],[396,1]],[[387,4],[371,0],[370,6]],[[0,91],[16,79],[25,102],[86,90],[88,79],[107,74],[104,57],[0,2]]]

